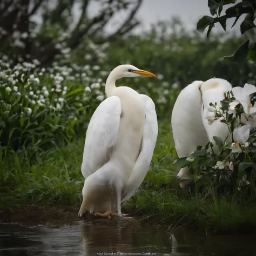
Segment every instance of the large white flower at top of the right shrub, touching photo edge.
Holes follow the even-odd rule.
[[[249,109],[252,107],[250,95],[256,92],[256,87],[252,84],[245,84],[244,88],[234,87],[232,91],[235,99],[241,103],[242,107],[244,108],[244,112],[248,115]]]

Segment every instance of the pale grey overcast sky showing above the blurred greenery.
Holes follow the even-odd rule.
[[[138,26],[133,32],[139,33],[142,30],[149,30],[152,23],[158,21],[170,21],[174,16],[179,16],[184,22],[186,29],[196,29],[198,20],[204,15],[209,15],[207,0],[144,0],[142,6],[137,12],[137,18],[142,24]],[[222,14],[230,5],[223,8]],[[97,14],[100,5],[97,1],[92,1],[90,6],[90,15]],[[112,31],[116,28],[115,24],[122,22],[125,13],[119,13],[114,17],[107,26],[107,31]],[[241,18],[240,18],[241,20]],[[232,19],[233,21],[233,19]],[[227,30],[230,30],[232,21],[227,21]],[[239,32],[239,22],[232,29],[232,31]],[[212,31],[224,31],[219,24],[216,24]]]

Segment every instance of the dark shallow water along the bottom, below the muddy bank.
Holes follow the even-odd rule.
[[[205,237],[185,231],[168,233],[116,219],[76,221],[62,226],[0,224],[0,256],[252,256],[256,255],[255,238],[252,235]]]

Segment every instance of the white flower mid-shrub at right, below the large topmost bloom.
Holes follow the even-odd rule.
[[[234,143],[231,145],[233,153],[242,152],[240,146],[245,146],[250,135],[250,125],[235,128],[233,132]]]

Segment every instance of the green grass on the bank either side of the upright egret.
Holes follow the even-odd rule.
[[[84,138],[39,154],[34,163],[16,155],[3,159],[0,210],[26,204],[79,207],[83,147]],[[152,165],[138,192],[123,206],[123,212],[160,226],[184,225],[219,232],[247,231],[256,226],[256,203],[238,203],[232,198],[203,199],[181,191],[175,179],[177,170],[171,165],[176,157],[170,120],[159,122]]]

